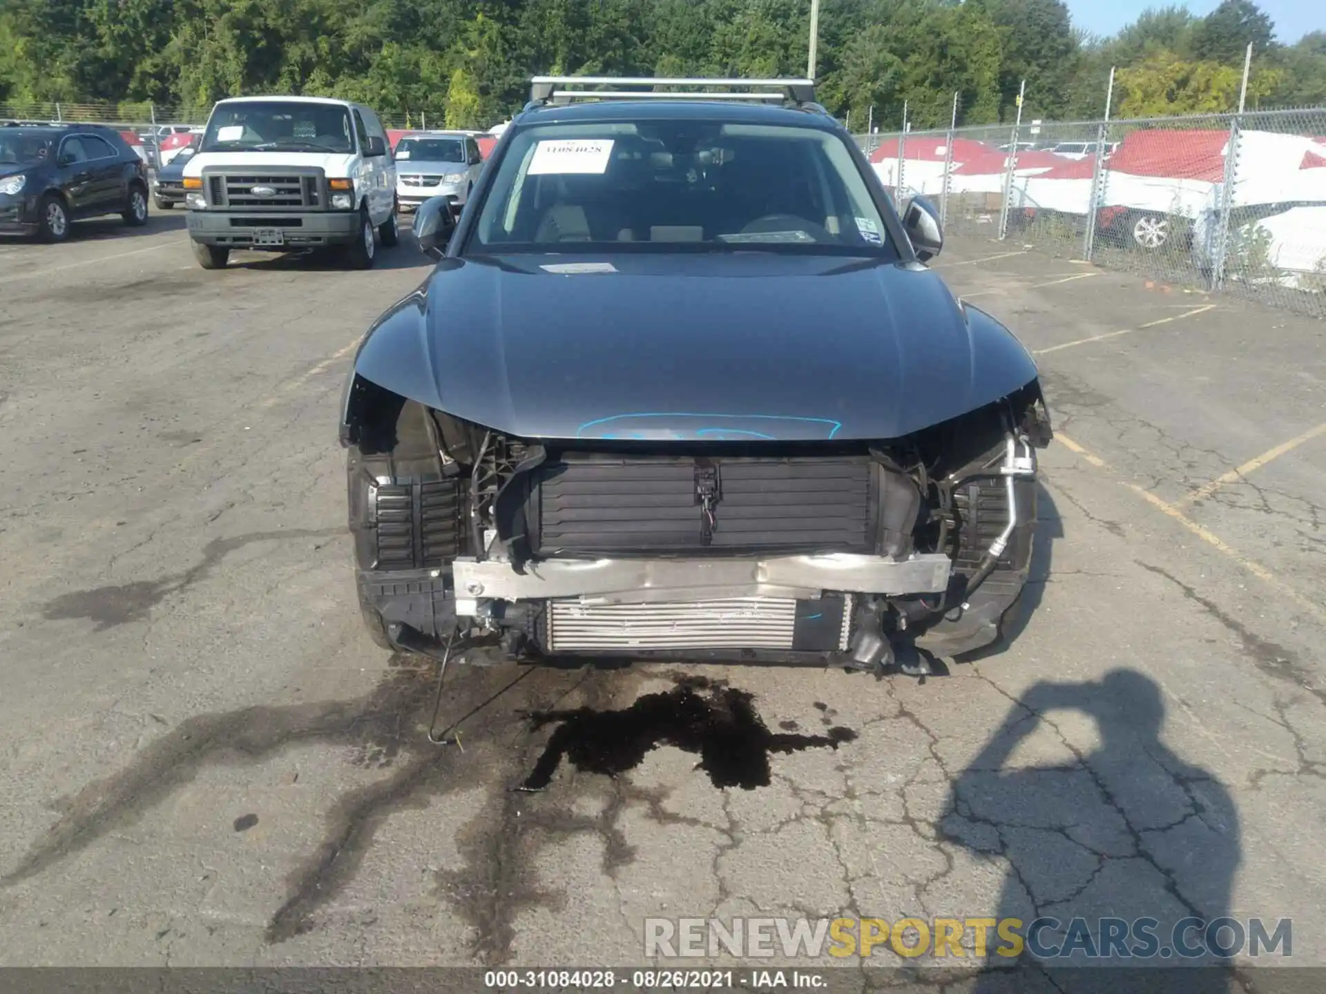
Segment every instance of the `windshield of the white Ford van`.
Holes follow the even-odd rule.
[[[338,103],[221,103],[207,122],[204,152],[353,152],[350,114]]]

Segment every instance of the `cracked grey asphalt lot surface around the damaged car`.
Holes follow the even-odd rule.
[[[434,664],[361,630],[335,444],[350,351],[426,260],[203,272],[168,213],[0,244],[0,964],[639,965],[651,916],[1228,914],[1326,965],[1326,435],[1209,486],[1326,421],[1321,326],[1017,248],[936,260],[1050,350],[1005,644],[924,683],[456,667],[435,746]]]

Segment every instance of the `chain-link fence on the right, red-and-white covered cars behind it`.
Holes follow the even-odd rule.
[[[1326,107],[857,140],[949,232],[1326,318]]]

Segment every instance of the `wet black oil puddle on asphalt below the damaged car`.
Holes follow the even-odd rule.
[[[671,690],[644,694],[622,710],[530,713],[533,728],[557,724],[557,730],[521,790],[544,790],[564,758],[578,770],[615,777],[638,766],[659,745],[699,754],[696,769],[704,770],[715,787],[753,790],[769,785],[770,754],[837,749],[857,737],[841,726],[826,736],[773,733],[753,700],[721,680],[683,676]]]

